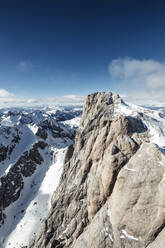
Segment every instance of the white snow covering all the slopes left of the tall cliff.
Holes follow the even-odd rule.
[[[74,134],[73,127],[78,126],[78,117],[76,117],[76,120],[72,119],[67,123],[58,124],[56,119],[50,116],[52,113],[53,110],[51,113],[44,111],[24,111],[18,115],[4,113],[0,120],[1,144],[6,147],[14,145],[14,149],[0,163],[0,176],[7,175],[21,155],[41,140],[36,136],[41,121],[48,120],[53,125],[60,125],[64,134],[70,136]],[[56,110],[54,110],[54,113],[56,113]],[[8,114],[9,116],[6,117]],[[64,137],[54,138],[52,131],[49,129],[47,131],[48,137],[45,142],[48,143],[48,146],[44,150],[39,149],[44,162],[37,166],[32,176],[24,177],[24,187],[19,199],[4,210],[7,218],[0,228],[0,248],[20,248],[28,245],[51,207],[51,197],[59,184],[63,170],[64,153],[67,146],[73,143],[73,140],[65,137],[65,135]],[[20,137],[18,142],[13,141],[17,137]],[[12,181],[11,184],[13,184]],[[18,191],[19,188],[15,193]]]

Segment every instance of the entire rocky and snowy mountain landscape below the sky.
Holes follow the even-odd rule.
[[[164,248],[164,109],[24,111],[1,115],[2,248]]]

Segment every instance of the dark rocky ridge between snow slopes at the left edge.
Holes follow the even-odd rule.
[[[30,151],[24,152],[9,172],[0,179],[0,227],[6,218],[4,210],[15,202],[24,187],[24,177],[30,177],[43,162],[39,149],[45,149],[44,142],[37,142]]]

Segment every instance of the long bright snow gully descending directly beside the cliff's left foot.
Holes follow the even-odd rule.
[[[15,219],[13,219],[12,216],[13,206],[10,206],[7,209],[6,213],[8,216],[8,223],[5,225],[5,237],[1,235],[1,242],[3,242],[3,240],[5,239],[4,244],[1,243],[1,246],[3,248],[21,248],[22,246],[28,245],[29,241],[33,238],[36,231],[38,230],[43,218],[47,215],[51,206],[51,196],[58,186],[59,179],[62,173],[63,159],[66,148],[52,148],[52,150],[54,156],[53,164],[50,165],[46,174],[45,165],[45,169],[41,169],[35,175],[35,177],[33,176],[33,180],[31,179],[31,185],[33,185],[33,187],[31,188],[30,192],[28,192],[29,186],[25,185],[22,192],[22,197],[20,197],[20,199],[18,200],[19,204],[13,204],[15,205],[15,208],[17,207],[17,214]],[[41,184],[40,181],[42,181]],[[29,184],[29,178],[25,178],[25,183]],[[29,193],[31,194],[31,201],[27,206],[27,199],[23,198]],[[24,209],[26,209],[26,211],[23,212],[21,216],[21,210]],[[12,212],[10,213],[10,211]],[[11,218],[9,218],[9,215],[11,216]],[[12,229],[9,226],[16,226],[16,228],[9,234],[9,236],[7,236],[8,231]]]

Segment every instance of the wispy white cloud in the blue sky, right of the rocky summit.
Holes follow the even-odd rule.
[[[116,59],[110,63],[111,80],[125,88],[126,98],[145,104],[164,101],[165,63],[155,60]]]

